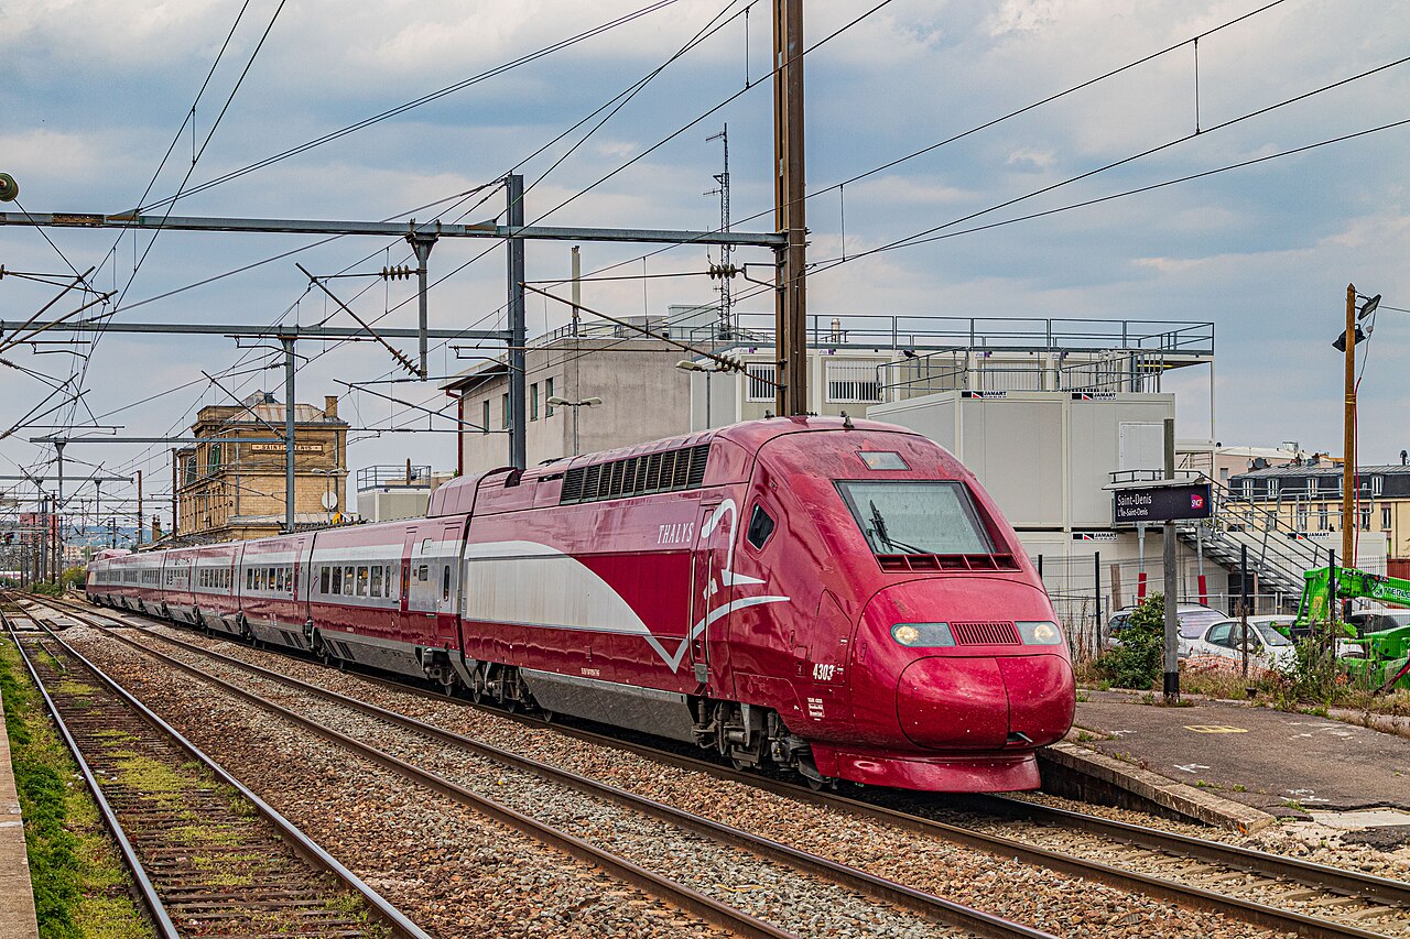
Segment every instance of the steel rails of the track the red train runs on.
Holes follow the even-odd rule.
[[[114,622],[121,622],[121,620],[114,620]],[[159,633],[152,633],[152,634],[159,636],[168,642],[173,642],[176,644],[200,650],[200,647],[172,640],[171,637],[161,636]],[[220,653],[214,653],[213,650],[200,650],[200,651],[206,654],[220,656]],[[250,663],[241,663],[240,660],[233,660],[233,661],[241,665],[250,665]],[[360,678],[365,680],[369,677],[360,675]],[[371,678],[372,681],[402,691],[424,694],[426,696],[436,698],[440,701],[457,701],[398,681],[391,681],[376,677]],[[464,704],[470,706],[470,702]],[[1318,919],[1316,916],[1308,916],[1306,914],[1294,912],[1290,909],[1282,909],[1277,907],[1270,907],[1256,901],[1244,900],[1239,897],[1218,894],[1206,890],[1203,887],[1182,884],[1162,877],[1155,877],[1151,874],[1127,871],[1120,867],[1105,864],[1103,861],[1090,860],[1073,854],[1065,854],[1052,849],[1039,847],[1017,839],[1004,837],[1001,835],[979,832],[959,825],[939,822],[919,815],[912,815],[909,812],[901,812],[897,809],[874,805],[871,802],[864,802],[832,792],[812,791],[802,785],[785,782],[783,780],[776,780],[760,774],[740,773],[737,770],[732,770],[719,766],[716,763],[711,763],[708,760],[701,760],[698,757],[682,756],[680,753],[673,753],[670,750],[643,746],[639,743],[620,740],[618,737],[595,733],[591,730],[567,728],[558,723],[548,723],[525,715],[506,715],[503,711],[494,708],[488,711],[491,713],[496,713],[501,716],[509,716],[510,719],[519,720],[530,726],[551,726],[560,733],[565,733],[568,736],[589,743],[595,743],[599,746],[627,750],[636,753],[637,756],[660,760],[663,763],[675,766],[678,768],[706,773],[709,775],[713,775],[715,778],[754,785],[776,795],[799,799],[814,805],[828,806],[835,811],[842,811],[859,818],[866,818],[870,821],[894,825],[916,833],[928,835],[952,843],[959,843],[962,846],[974,850],[997,854],[1000,857],[1014,857],[1029,864],[1036,864],[1052,870],[1060,870],[1063,873],[1089,880],[1097,880],[1112,887],[1138,891],[1149,897],[1156,897],[1180,905],[1206,909],[1211,912],[1220,912],[1237,918],[1242,922],[1249,922],[1269,929],[1276,929],[1280,932],[1294,932],[1297,935],[1307,936],[1308,939],[1383,939],[1383,933],[1371,932],[1366,929],[1361,929],[1358,926],[1351,926],[1347,923],[1340,923],[1328,919]],[[1073,812],[1072,815],[1081,819],[1093,819],[1093,823],[1096,823],[1097,821],[1104,821],[1104,819],[1097,819],[1097,816],[1081,815],[1077,812]],[[1129,828],[1144,833],[1144,836],[1151,839],[1152,842],[1159,840],[1163,835],[1166,835],[1165,832],[1159,832],[1158,829],[1149,829],[1135,825],[1131,825]],[[1136,832],[1131,833],[1135,835]],[[1190,842],[1198,845],[1200,849],[1206,852],[1208,859],[1213,859],[1220,864],[1225,864],[1235,870],[1248,870],[1251,859],[1242,852],[1232,850],[1232,846],[1194,839],[1190,836],[1180,836],[1180,837],[1189,839]],[[1170,846],[1156,850],[1165,850],[1173,854],[1187,854],[1190,852],[1190,846],[1182,846],[1176,849],[1173,846],[1173,842],[1166,842],[1166,843]],[[1244,849],[1244,852],[1246,850],[1248,849]],[[1249,853],[1255,856],[1262,854],[1262,852],[1249,852]],[[1372,891],[1375,891],[1376,894],[1379,894],[1378,900],[1380,897],[1394,895],[1400,890],[1410,888],[1410,885],[1399,884],[1399,881],[1372,877],[1354,871],[1337,871],[1335,869],[1324,867],[1321,864],[1311,864],[1308,861],[1301,861],[1299,859],[1280,857],[1276,854],[1266,854],[1266,859],[1268,860],[1262,861],[1263,870],[1258,873],[1268,877],[1283,878],[1306,884],[1308,887],[1316,887],[1318,890],[1327,890],[1330,892],[1344,892],[1340,885],[1338,887],[1331,885],[1332,883],[1352,885],[1351,890],[1345,891],[1349,892],[1351,895],[1372,897],[1373,895]],[[1334,871],[1340,877],[1335,881],[1332,881],[1325,876],[1325,871]],[[1403,905],[1403,904],[1400,904],[1400,901],[1396,901],[1394,905]]]

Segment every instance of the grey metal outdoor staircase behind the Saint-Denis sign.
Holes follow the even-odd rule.
[[[1239,550],[1248,548],[1248,567],[1262,592],[1280,592],[1293,602],[1301,596],[1303,572],[1325,567],[1327,553],[1299,537],[1276,512],[1239,499],[1218,482],[1210,481],[1210,517],[1177,522],[1180,540],[1230,571],[1238,570]]]

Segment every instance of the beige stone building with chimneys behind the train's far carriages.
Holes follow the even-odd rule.
[[[295,526],[337,522],[347,485],[347,429],[338,399],[295,405]],[[172,451],[178,543],[231,541],[283,530],[285,406],[268,392],[202,407],[200,443]],[[268,438],[268,443],[265,443]],[[248,443],[231,443],[241,440]]]

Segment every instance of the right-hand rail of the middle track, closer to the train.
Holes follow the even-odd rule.
[[[161,651],[158,651],[155,649],[151,649],[149,646],[145,646],[142,643],[134,642],[133,639],[130,639],[127,636],[111,633],[107,627],[99,626],[99,629],[104,629],[104,632],[109,632],[109,634],[111,634],[118,642],[121,642],[121,643],[124,643],[124,644],[127,644],[127,646],[130,646],[133,649],[141,650],[142,653],[145,653],[148,656],[152,656],[158,661],[162,661],[162,663],[165,663],[168,665],[179,668],[179,670],[182,670],[182,671],[185,671],[188,674],[200,677],[204,681],[212,681],[212,682],[214,682],[214,684],[217,684],[217,685],[220,685],[220,687],[223,687],[223,688],[226,688],[228,691],[240,694],[241,696],[247,696],[247,699],[250,699],[252,704],[257,704],[257,699],[259,699],[259,696],[254,695],[252,692],[248,692],[248,691],[244,691],[244,689],[241,689],[241,688],[238,688],[235,685],[231,685],[231,684],[226,682],[221,678],[210,675],[209,673],[204,673],[200,668],[189,665],[189,664],[186,664],[186,663],[178,660],[178,658],[173,658],[171,656],[166,656],[166,654],[164,654],[164,653],[161,653]],[[488,760],[492,760],[492,761],[496,761],[496,763],[501,763],[501,764],[505,764],[505,766],[512,766],[512,767],[523,770],[526,773],[532,773],[532,774],[534,774],[534,775],[537,775],[540,778],[544,778],[547,781],[557,782],[557,784],[564,785],[564,787],[570,787],[570,788],[572,788],[575,791],[585,792],[585,794],[592,795],[595,798],[602,798],[602,799],[609,799],[609,801],[618,802],[619,805],[625,805],[625,806],[627,806],[627,808],[630,808],[633,811],[642,812],[643,815],[649,815],[651,818],[664,821],[667,823],[677,825],[680,828],[685,828],[685,829],[692,830],[692,832],[695,832],[698,835],[709,837],[709,839],[712,839],[715,842],[721,842],[721,843],[726,843],[726,845],[730,845],[730,846],[735,846],[735,847],[739,847],[739,849],[743,849],[743,850],[749,850],[749,852],[752,852],[752,853],[754,853],[754,854],[757,854],[760,857],[764,857],[767,860],[771,860],[774,863],[781,863],[781,864],[785,864],[788,867],[804,870],[804,871],[808,871],[808,873],[811,873],[814,876],[818,876],[818,877],[822,877],[822,878],[826,878],[826,880],[832,880],[832,881],[835,881],[835,883],[838,883],[838,884],[840,884],[843,887],[847,887],[850,890],[856,890],[859,892],[863,892],[863,894],[866,894],[869,897],[873,897],[876,900],[880,900],[883,902],[888,902],[888,904],[894,904],[894,905],[898,905],[898,907],[904,907],[907,909],[911,909],[914,912],[922,914],[925,916],[935,918],[935,919],[938,919],[940,922],[946,922],[946,923],[950,923],[950,925],[955,925],[955,926],[960,926],[960,928],[969,929],[969,931],[971,931],[971,932],[974,932],[977,935],[981,935],[981,936],[1004,936],[1004,938],[1008,938],[1008,936],[1021,936],[1024,939],[1052,939],[1052,933],[1043,932],[1041,929],[1034,929],[1034,928],[1025,926],[1022,923],[1010,922],[1010,921],[1003,919],[1001,916],[997,916],[994,914],[987,914],[984,911],[974,909],[974,908],[966,907],[963,904],[957,904],[957,902],[946,900],[943,897],[936,897],[933,894],[926,894],[926,892],[915,890],[912,887],[907,887],[904,884],[900,884],[900,883],[895,883],[895,881],[891,881],[891,880],[887,880],[887,878],[883,878],[883,877],[877,877],[876,874],[869,874],[867,871],[850,867],[847,864],[842,864],[839,861],[833,861],[833,860],[822,857],[819,854],[812,854],[809,852],[804,852],[804,850],[799,850],[797,847],[791,847],[788,845],[783,845],[781,842],[776,842],[773,839],[767,839],[767,837],[763,837],[763,836],[759,836],[759,835],[753,835],[750,832],[744,832],[744,830],[733,828],[730,825],[715,822],[712,819],[708,819],[708,818],[704,818],[704,816],[699,816],[699,815],[694,815],[691,812],[685,812],[682,809],[677,809],[677,808],[670,806],[670,805],[664,805],[664,804],[657,802],[654,799],[649,799],[646,797],[640,797],[640,795],[636,795],[633,792],[627,792],[626,790],[620,790],[618,787],[613,787],[613,785],[609,785],[609,784],[605,784],[605,782],[599,782],[596,780],[591,780],[591,778],[588,778],[585,775],[570,773],[567,770],[560,770],[558,767],[553,767],[553,766],[548,766],[546,763],[540,763],[540,761],[533,760],[530,757],[523,757],[523,756],[519,756],[519,754],[515,754],[515,753],[509,753],[508,750],[502,750],[499,747],[495,747],[492,744],[484,743],[481,740],[475,740],[475,739],[471,739],[471,737],[467,737],[467,736],[462,736],[462,735],[458,735],[458,733],[453,733],[450,730],[446,730],[443,728],[437,728],[434,725],[423,723],[420,720],[416,720],[415,718],[407,718],[406,715],[400,715],[400,713],[396,713],[393,711],[386,711],[385,708],[378,708],[376,705],[371,705],[371,704],[367,704],[364,701],[357,701],[355,698],[348,698],[345,695],[340,695],[340,694],[329,691],[326,688],[319,688],[317,685],[310,685],[310,684],[307,684],[305,681],[300,681],[298,678],[293,678],[290,675],[283,675],[283,674],[281,674],[278,671],[272,671],[272,670],[264,668],[261,665],[255,665],[255,664],[251,664],[251,663],[247,663],[247,661],[241,661],[238,658],[226,656],[223,653],[217,653],[217,651],[213,651],[213,650],[206,650],[206,649],[202,649],[199,646],[192,646],[189,643],[172,639],[171,636],[162,636],[159,633],[152,633],[149,630],[147,632],[147,634],[149,634],[154,639],[158,639],[161,642],[166,642],[166,643],[179,646],[180,649],[185,649],[188,651],[192,651],[192,653],[196,653],[196,654],[202,654],[202,656],[219,660],[219,661],[230,664],[230,665],[235,665],[235,667],[243,668],[245,671],[250,671],[250,673],[252,673],[252,674],[255,674],[255,675],[258,675],[261,678],[266,678],[269,681],[275,681],[275,682],[283,684],[285,687],[289,687],[289,688],[296,688],[299,691],[316,695],[316,696],[323,698],[326,701],[331,701],[331,702],[338,704],[341,706],[345,706],[345,708],[350,708],[350,709],[354,709],[354,711],[360,711],[360,712],[365,713],[365,715],[369,715],[369,716],[386,720],[388,723],[393,723],[396,726],[400,726],[400,728],[403,728],[406,730],[412,730],[412,732],[419,733],[422,736],[427,736],[427,737],[436,739],[436,740],[439,740],[441,743],[447,743],[447,744],[451,744],[451,746],[461,747],[464,750],[470,750],[470,751],[472,751],[472,753],[475,753],[478,756],[482,756],[482,757],[485,757]],[[278,708],[279,711],[283,711],[278,705],[275,705],[275,708]],[[319,726],[323,726],[323,725],[319,725]],[[331,730],[331,729],[327,729],[327,730]],[[331,733],[337,735],[338,737],[343,736],[337,730],[331,730]],[[392,757],[392,759],[396,760],[396,757]],[[424,770],[416,770],[416,771],[417,773],[424,773]],[[437,778],[440,778],[440,777],[437,777]],[[443,781],[447,782],[451,787],[455,787],[455,784],[450,782],[448,780],[443,780]],[[458,790],[458,787],[455,787],[455,788]],[[484,797],[478,797],[478,798],[484,798]],[[512,812],[512,809],[505,809],[505,811],[506,812]],[[571,837],[571,836],[564,836],[564,837]],[[596,849],[594,849],[594,850],[596,850]],[[630,861],[627,861],[627,863],[630,863]],[[723,923],[718,923],[718,925],[723,925]]]

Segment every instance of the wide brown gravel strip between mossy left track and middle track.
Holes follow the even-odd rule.
[[[65,639],[431,935],[726,935],[97,630]]]

